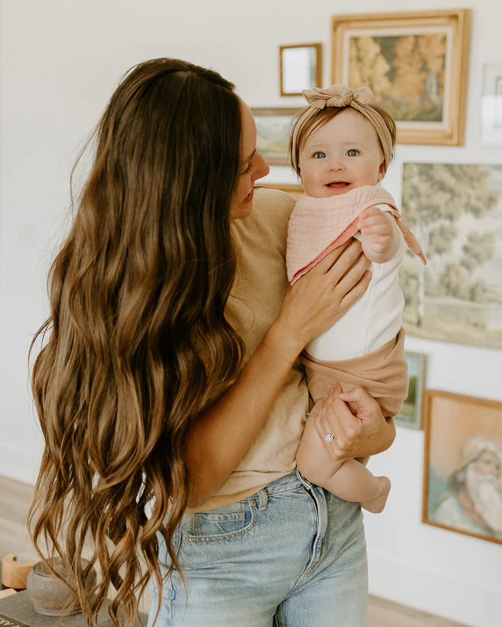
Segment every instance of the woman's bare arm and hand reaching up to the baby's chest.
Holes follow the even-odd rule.
[[[206,502],[245,456],[299,353],[365,292],[368,265],[360,242],[352,240],[289,288],[280,314],[234,385],[190,428],[190,507]]]

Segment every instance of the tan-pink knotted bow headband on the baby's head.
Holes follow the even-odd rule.
[[[312,116],[319,113],[321,109],[325,107],[352,107],[356,109],[356,111],[359,111],[360,114],[363,114],[377,132],[383,150],[383,162],[387,171],[393,152],[392,135],[378,111],[368,106],[373,100],[373,92],[369,87],[360,87],[358,89],[351,89],[347,87],[347,85],[331,85],[325,89],[314,87],[313,89],[304,89],[303,95],[305,96],[305,100],[310,104],[310,107],[298,118],[295,124],[292,139],[293,146],[296,146],[298,131],[303,124]],[[295,169],[296,165],[297,164],[293,164]]]

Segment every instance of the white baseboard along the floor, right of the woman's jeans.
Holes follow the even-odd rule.
[[[480,585],[452,575],[368,552],[370,594],[469,627],[498,627],[502,616],[499,586]],[[478,573],[471,573],[473,578]]]

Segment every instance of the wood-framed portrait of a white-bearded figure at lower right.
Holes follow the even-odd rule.
[[[502,402],[426,390],[422,522],[502,544]]]

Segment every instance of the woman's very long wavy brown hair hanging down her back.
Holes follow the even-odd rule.
[[[111,586],[109,613],[128,626],[149,578],[162,589],[162,536],[169,571],[180,570],[185,436],[241,366],[243,344],[225,318],[241,138],[233,90],[176,59],[129,70],[96,128],[91,172],[50,270],[50,317],[30,349],[40,349],[32,388],[45,449],[29,527],[40,555],[48,545],[63,559],[91,626]],[[100,577],[89,592],[92,566]]]

